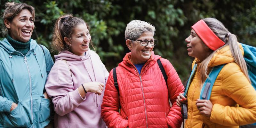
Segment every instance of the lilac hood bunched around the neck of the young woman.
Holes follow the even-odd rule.
[[[78,56],[69,51],[62,51],[62,52],[60,52],[60,54],[55,55],[54,58],[55,58],[55,61],[61,60],[61,59],[63,59],[63,60],[81,60],[81,59],[86,60],[90,57],[90,55],[91,55],[90,49],[85,52],[85,56]]]

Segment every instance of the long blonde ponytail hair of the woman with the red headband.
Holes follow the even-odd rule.
[[[204,18],[204,22],[207,24],[209,28],[214,32],[216,36],[218,36],[224,43],[222,47],[218,48],[217,50],[213,51],[208,57],[206,57],[201,63],[200,68],[198,70],[198,78],[200,80],[200,85],[202,86],[205,79],[208,77],[209,74],[209,67],[208,64],[210,60],[212,59],[213,55],[220,50],[221,48],[229,45],[230,51],[232,53],[232,56],[236,62],[236,64],[241,68],[242,72],[246,76],[246,78],[250,81],[246,63],[244,60],[244,57],[240,51],[239,45],[237,43],[236,35],[234,34],[228,34],[228,29],[217,19],[215,18]]]

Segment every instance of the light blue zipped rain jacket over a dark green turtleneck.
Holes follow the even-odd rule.
[[[0,41],[0,127],[45,127],[50,122],[50,102],[43,95],[53,61],[35,40],[24,56],[5,38]],[[45,53],[45,57],[44,57]],[[10,112],[12,102],[18,107]]]

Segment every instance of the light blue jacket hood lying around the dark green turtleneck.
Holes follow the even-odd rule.
[[[29,45],[29,51],[30,50],[34,50],[36,47],[37,43],[35,40],[31,40],[30,45]],[[0,41],[0,47],[3,48],[6,52],[8,52],[9,54],[15,52],[16,50],[12,47],[12,45],[7,41],[6,38],[4,38],[4,40],[1,42]]]

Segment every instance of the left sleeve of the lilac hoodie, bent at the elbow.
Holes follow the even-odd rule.
[[[73,86],[72,77],[65,61],[58,60],[50,71],[45,85],[46,92],[52,98],[55,112],[64,116],[73,111],[85,100]]]

